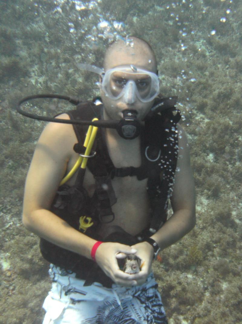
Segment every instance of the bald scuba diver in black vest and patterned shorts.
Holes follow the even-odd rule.
[[[47,124],[26,179],[23,223],[51,263],[43,324],[167,323],[152,261],[195,226],[188,144],[152,48],[115,41],[103,68],[100,97]]]

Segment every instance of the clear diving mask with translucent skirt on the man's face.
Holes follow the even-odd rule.
[[[150,71],[134,65],[115,67],[105,72],[101,89],[110,99],[123,99],[132,104],[138,98],[142,102],[152,101],[160,92],[159,78]]]

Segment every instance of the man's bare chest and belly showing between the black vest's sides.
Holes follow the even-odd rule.
[[[116,168],[139,167],[141,165],[139,142],[133,143],[133,145],[128,147],[125,147],[126,143],[123,144],[123,146],[117,145],[115,141],[110,141],[107,145],[114,166]],[[72,179],[73,184],[74,178]],[[146,190],[147,179],[138,180],[136,176],[115,177],[111,180],[111,184],[117,198],[117,202],[112,206],[115,219],[109,225],[103,226],[121,226],[132,235],[138,234],[149,222],[149,200]],[[83,186],[91,197],[96,186],[95,179],[88,168],[86,169]]]

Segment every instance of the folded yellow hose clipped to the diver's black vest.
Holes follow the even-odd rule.
[[[92,121],[97,121],[97,118],[94,118]],[[95,137],[97,135],[98,127],[90,125],[87,131],[87,135],[84,141],[84,145],[86,147],[84,155],[89,155],[91,152],[92,145],[94,143]],[[77,171],[79,166],[81,166],[82,169],[86,168],[88,157],[82,157],[79,156],[78,160],[76,161],[73,168],[70,170],[70,172],[60,181],[60,186],[62,186],[64,183],[66,183]]]

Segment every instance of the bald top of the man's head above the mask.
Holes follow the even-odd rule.
[[[108,47],[104,56],[104,70],[107,71],[120,65],[133,64],[156,73],[156,58],[151,46],[141,38],[130,36],[130,39],[132,40],[132,46],[123,40],[118,40]]]

